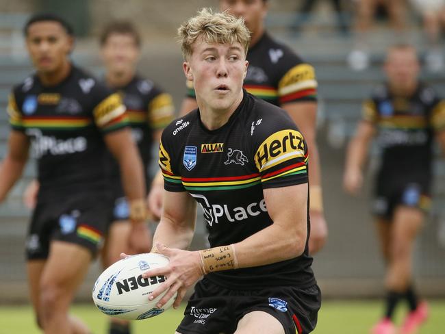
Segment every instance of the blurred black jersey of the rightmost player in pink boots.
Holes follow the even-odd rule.
[[[445,101],[432,88],[419,84],[405,98],[394,96],[387,85],[379,86],[364,102],[362,114],[378,130],[381,172],[431,177],[433,135],[445,129]]]

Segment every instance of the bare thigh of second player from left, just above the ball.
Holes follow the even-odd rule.
[[[131,223],[127,220],[117,220],[112,222],[105,237],[105,244],[102,250],[103,266],[108,267],[120,259],[120,253],[129,253],[128,236],[131,230]]]

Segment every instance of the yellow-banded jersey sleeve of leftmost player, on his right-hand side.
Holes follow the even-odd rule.
[[[94,123],[102,133],[110,133],[129,125],[126,108],[118,93],[112,93],[100,85],[92,94],[94,94],[92,110]]]

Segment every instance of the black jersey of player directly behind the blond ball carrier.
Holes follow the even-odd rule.
[[[296,101],[316,101],[317,81],[312,65],[301,60],[292,49],[264,33],[249,48],[244,88],[251,94],[283,105]],[[187,81],[188,97],[195,97],[192,81]]]

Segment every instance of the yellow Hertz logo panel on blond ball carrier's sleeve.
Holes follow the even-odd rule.
[[[255,153],[260,172],[296,157],[305,156],[303,136],[296,130],[281,130],[270,135]]]

